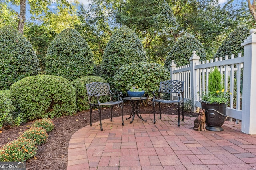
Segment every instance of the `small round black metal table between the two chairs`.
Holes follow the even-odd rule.
[[[132,120],[130,121],[130,123],[132,123],[132,121],[134,120],[135,114],[142,119],[143,121],[147,122],[147,120],[144,120],[142,118],[142,116],[140,115],[140,103],[142,102],[142,100],[146,100],[146,97],[141,97],[141,98],[131,98],[131,97],[125,97],[123,98],[123,100],[127,100],[130,101],[130,104],[132,106],[132,112],[130,117],[126,118],[126,120],[132,118]]]

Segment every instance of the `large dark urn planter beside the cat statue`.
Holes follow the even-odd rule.
[[[205,128],[209,131],[223,131],[223,128],[221,126],[224,124],[227,117],[227,105],[225,103],[208,104],[206,102],[200,102],[202,105],[202,109],[205,109]]]

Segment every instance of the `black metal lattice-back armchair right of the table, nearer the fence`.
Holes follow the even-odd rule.
[[[160,113],[160,119],[161,119],[161,103],[177,103],[178,104],[178,127],[180,127],[180,104],[182,105],[182,121],[184,121],[184,81],[178,81],[178,80],[168,80],[164,82],[160,82],[160,87],[157,92],[153,91],[153,113],[154,113],[154,123],[156,123],[155,119],[155,105],[156,102],[158,102],[159,105],[159,113]],[[170,94],[173,93],[178,94],[177,100],[168,100],[163,99],[164,94]]]

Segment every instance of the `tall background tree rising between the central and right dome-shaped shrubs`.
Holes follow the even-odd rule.
[[[116,20],[128,25],[142,39],[150,62],[164,63],[177,37],[176,19],[165,0],[129,0]]]

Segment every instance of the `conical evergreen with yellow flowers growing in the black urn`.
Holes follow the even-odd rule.
[[[231,93],[225,91],[222,87],[222,76],[218,68],[215,67],[209,74],[208,92],[202,92],[201,101],[208,104],[227,104]]]

